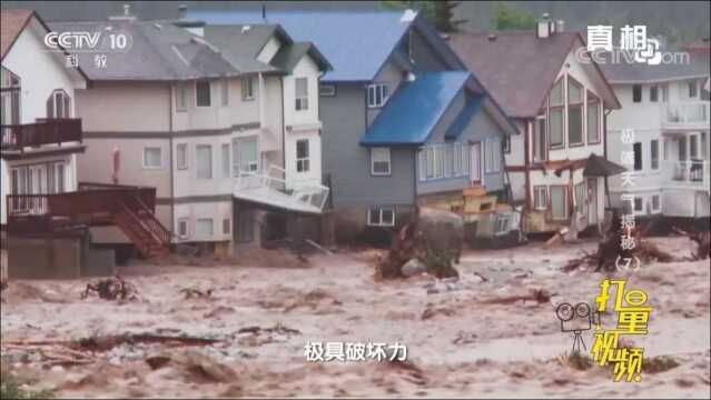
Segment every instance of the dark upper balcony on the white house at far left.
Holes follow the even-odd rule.
[[[2,152],[24,152],[45,144],[81,142],[81,119],[37,119],[32,123],[0,126]]]

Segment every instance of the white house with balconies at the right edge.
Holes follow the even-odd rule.
[[[613,204],[631,206],[640,218],[705,219],[708,224],[709,54],[692,53],[680,64],[602,67],[622,102],[608,118],[608,156],[630,170],[629,178],[610,181]]]

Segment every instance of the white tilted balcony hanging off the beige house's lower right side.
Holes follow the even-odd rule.
[[[284,170],[270,166],[266,174],[240,172],[235,181],[236,199],[300,213],[320,213],[328,199],[328,188],[323,184],[293,182],[287,184]],[[288,190],[287,187],[294,187]]]

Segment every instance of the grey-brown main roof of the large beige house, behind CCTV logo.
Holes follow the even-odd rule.
[[[91,80],[170,81],[234,77],[271,71],[273,67],[253,57],[224,57],[209,41],[170,22],[109,20],[52,23],[56,31],[126,32],[131,38],[128,51],[111,51],[102,43],[107,68],[96,68],[93,52],[79,52],[79,66]]]

